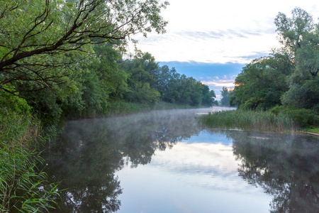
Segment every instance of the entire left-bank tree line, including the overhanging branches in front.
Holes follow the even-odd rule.
[[[103,116],[110,105],[159,101],[212,106],[215,93],[159,66],[150,53],[123,58],[133,35],[164,33],[167,1],[0,2],[0,103],[46,118]]]

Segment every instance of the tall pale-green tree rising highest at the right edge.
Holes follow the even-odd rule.
[[[281,102],[319,111],[319,25],[300,8],[293,9],[292,18],[279,13],[275,23],[283,49],[296,65],[289,76],[289,90],[281,97]]]

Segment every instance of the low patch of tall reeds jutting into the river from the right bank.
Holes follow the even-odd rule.
[[[218,111],[203,115],[200,121],[212,128],[242,129],[254,131],[291,132],[298,126],[287,114],[273,114],[269,111]]]

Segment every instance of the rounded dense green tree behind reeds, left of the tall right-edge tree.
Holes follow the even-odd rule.
[[[265,110],[281,104],[281,96],[289,88],[286,76],[293,65],[288,55],[279,53],[253,60],[235,79],[230,104],[241,109]]]

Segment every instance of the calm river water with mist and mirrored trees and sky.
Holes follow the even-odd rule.
[[[68,121],[45,153],[52,212],[319,212],[318,138],[196,120],[229,109]]]

